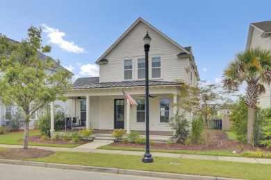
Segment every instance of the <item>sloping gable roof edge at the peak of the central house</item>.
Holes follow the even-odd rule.
[[[188,55],[191,54],[191,52],[189,50],[191,50],[191,47],[187,47],[187,48],[183,48],[181,45],[179,45],[178,43],[174,42],[172,39],[170,39],[170,37],[167,37],[167,35],[165,35],[164,33],[162,33],[160,30],[156,29],[154,26],[151,26],[151,24],[149,24],[147,21],[145,21],[144,19],[142,19],[141,17],[139,17],[120,37],[119,39],[117,39],[117,41],[112,44],[112,46],[110,46],[110,48],[108,48],[108,50],[101,55],[101,57],[99,57],[99,59],[95,62],[97,64],[99,64],[101,62],[101,60],[104,59],[104,57],[106,55],[108,55],[108,53],[110,53],[110,51],[113,50],[113,48],[115,46],[117,46],[117,44],[119,44],[122,39],[124,39],[124,37],[126,37],[126,35],[128,35],[130,33],[131,30],[133,30],[133,28],[139,24],[140,22],[142,22],[143,24],[145,24],[146,26],[148,26],[149,28],[151,28],[152,30],[154,30],[156,33],[158,33],[159,35],[161,35],[162,37],[165,37],[165,39],[167,39],[169,42],[171,42],[172,44],[174,44],[176,47],[180,48],[181,51],[183,51],[184,53],[187,53]]]

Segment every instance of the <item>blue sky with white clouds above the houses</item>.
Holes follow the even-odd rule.
[[[52,46],[47,55],[75,79],[99,75],[95,61],[142,17],[181,46],[192,46],[200,78],[215,83],[245,50],[249,24],[271,20],[270,7],[268,0],[9,0],[1,1],[0,33],[21,41],[31,25],[42,27],[44,45]]]

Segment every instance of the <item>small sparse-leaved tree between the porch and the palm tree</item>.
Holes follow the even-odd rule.
[[[180,92],[181,103],[178,105],[184,111],[204,119],[206,126],[206,144],[210,144],[209,120],[217,114],[218,109],[227,107],[229,99],[223,97],[218,84],[198,84],[192,86],[183,82]],[[215,108],[214,105],[218,108]]]

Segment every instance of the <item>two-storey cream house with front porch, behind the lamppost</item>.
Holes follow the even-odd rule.
[[[171,135],[168,122],[178,108],[181,83],[199,81],[191,47],[182,47],[147,21],[138,18],[108,50],[99,57],[99,77],[79,78],[69,98],[69,117],[86,120],[97,133],[126,129],[145,134],[145,51],[143,37],[151,37],[149,51],[149,131]],[[108,31],[110,33],[110,31]],[[190,71],[187,71],[189,69]],[[136,102],[129,105],[124,90]],[[188,116],[188,118],[190,118]]]

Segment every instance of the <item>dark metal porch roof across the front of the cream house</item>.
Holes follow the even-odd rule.
[[[182,83],[149,80],[150,87],[179,86],[181,84]],[[72,89],[104,89],[104,88],[120,88],[120,87],[145,87],[145,80],[99,83],[99,77],[92,77],[92,78],[78,78],[74,82],[74,84],[72,84]]]

